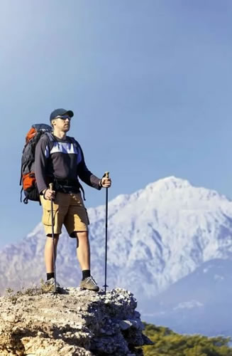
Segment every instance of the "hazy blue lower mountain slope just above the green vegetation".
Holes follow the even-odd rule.
[[[143,318],[177,333],[232,335],[232,261],[202,263],[153,300],[143,300]]]

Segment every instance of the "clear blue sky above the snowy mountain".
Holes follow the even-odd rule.
[[[109,200],[174,175],[232,197],[230,0],[1,0],[0,247],[41,220],[20,202],[34,123],[74,111],[87,167]],[[85,187],[86,206],[105,191]]]

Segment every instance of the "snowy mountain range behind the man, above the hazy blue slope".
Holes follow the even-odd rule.
[[[92,274],[102,286],[105,207],[88,209],[88,214]],[[232,259],[232,202],[184,179],[167,177],[133,194],[119,195],[109,202],[108,226],[109,288],[133,291],[141,307],[204,263]],[[38,224],[19,244],[0,251],[0,290],[28,286],[45,276],[44,243],[43,226]],[[57,279],[65,286],[79,283],[75,246],[63,231]]]

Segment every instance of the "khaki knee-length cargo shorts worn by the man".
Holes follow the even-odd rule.
[[[43,206],[42,222],[45,234],[52,235],[51,201],[40,196]],[[75,231],[88,231],[89,218],[87,209],[80,193],[65,194],[57,192],[53,201],[54,234],[61,234],[62,224],[65,225],[70,237],[75,237]]]

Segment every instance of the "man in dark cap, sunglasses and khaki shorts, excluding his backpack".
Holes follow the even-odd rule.
[[[47,235],[46,283],[55,285],[51,221],[51,199],[53,199],[55,257],[62,224],[64,224],[70,237],[77,239],[77,258],[82,268],[80,287],[97,291],[99,287],[90,273],[89,219],[82,200],[80,192],[82,186],[78,177],[96,189],[111,187],[111,179],[107,177],[99,179],[94,176],[87,169],[79,143],[66,135],[70,130],[70,120],[73,115],[72,110],[54,110],[50,115],[54,140],[51,140],[48,135],[43,135],[35,149],[35,178],[43,206],[42,221]],[[54,190],[49,188],[51,182]]]

